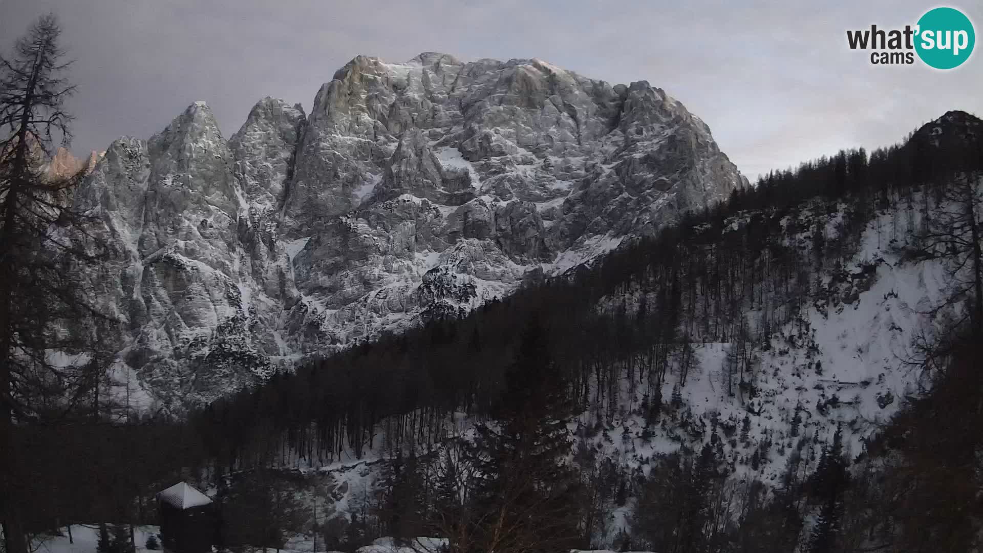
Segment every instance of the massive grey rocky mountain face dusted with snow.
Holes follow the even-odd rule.
[[[741,182],[646,82],[425,53],[355,58],[310,115],[264,98],[228,141],[197,102],[114,142],[76,209],[114,247],[90,280],[120,321],[116,367],[180,410],[561,273]]]

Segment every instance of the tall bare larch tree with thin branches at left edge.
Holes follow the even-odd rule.
[[[75,87],[64,77],[71,62],[64,61],[60,34],[57,18],[42,16],[9,56],[0,56],[0,521],[6,553],[26,553],[29,546],[25,514],[32,500],[17,430],[88,398],[91,381],[87,367],[57,354],[82,351],[88,339],[61,323],[94,315],[78,269],[95,261],[99,249],[71,211],[72,187],[82,174],[45,168],[56,141],[71,139],[65,101]]]

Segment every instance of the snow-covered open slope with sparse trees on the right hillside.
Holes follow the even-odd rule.
[[[814,215],[803,211],[799,216]],[[865,440],[891,420],[906,397],[925,391],[928,382],[913,366],[912,346],[920,333],[934,331],[921,312],[942,301],[947,279],[938,262],[900,261],[890,238],[896,228],[898,234],[905,232],[904,222],[896,226],[898,216],[878,215],[863,232],[859,251],[822,276],[819,286],[831,293],[831,302],[814,298],[775,329],[768,346],[756,354],[757,369],[747,381],[753,394],[740,386],[734,386],[732,396],[727,393],[731,343],[697,343],[697,360],[685,384],[675,376],[662,385],[663,397],[681,399],[680,407],[654,427],[647,427],[640,414],[607,421],[612,439],[603,441],[606,455],[644,468],[653,454],[692,444],[681,422],[696,425],[696,433],[709,440],[715,419],[736,478],[776,481],[800,438],[809,439],[805,455],[815,460],[838,425],[849,437],[847,452],[863,452]],[[913,221],[917,224],[917,216]],[[834,238],[835,226],[827,232],[828,239]],[[808,233],[788,238],[811,242]],[[748,315],[752,325],[759,316]],[[678,368],[670,373],[678,375]],[[632,398],[627,386],[622,388],[622,407],[630,411],[642,402],[640,391]],[[587,413],[582,422],[590,425],[594,418]],[[646,428],[649,436],[643,438]],[[760,457],[756,467],[752,457]]]

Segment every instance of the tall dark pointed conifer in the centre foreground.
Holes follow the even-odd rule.
[[[506,370],[505,389],[479,425],[469,548],[501,553],[569,549],[578,535],[576,474],[564,462],[572,405],[535,316]]]

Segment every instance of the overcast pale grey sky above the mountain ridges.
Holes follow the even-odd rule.
[[[739,5],[738,5],[739,4]],[[950,4],[980,31],[979,0]],[[932,2],[0,0],[0,49],[54,11],[77,62],[73,152],[149,138],[203,99],[231,136],[260,97],[301,102],[358,54],[532,58],[647,80],[710,125],[749,178],[893,144],[950,109],[983,115],[983,54],[935,71],[874,66],[847,29],[914,25]],[[977,48],[978,50],[979,48]]]

